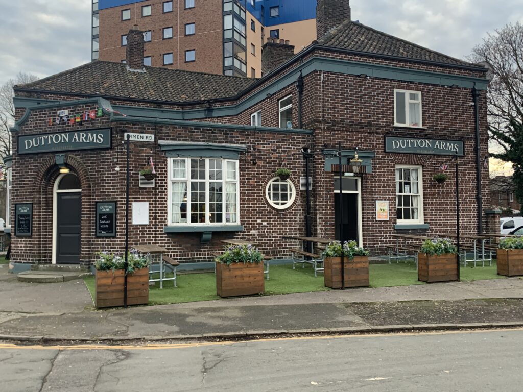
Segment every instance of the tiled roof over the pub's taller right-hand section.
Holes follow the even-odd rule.
[[[351,20],[346,20],[326,33],[318,40],[318,43],[329,47],[405,57],[413,60],[434,61],[459,66],[473,65]]]

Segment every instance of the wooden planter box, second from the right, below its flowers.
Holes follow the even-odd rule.
[[[430,256],[418,253],[418,280],[422,282],[453,282],[458,280],[458,255]]]

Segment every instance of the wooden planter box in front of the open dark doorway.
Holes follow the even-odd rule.
[[[327,257],[324,263],[323,279],[326,287],[340,289],[342,287],[342,258]],[[344,257],[345,287],[369,286],[369,258],[356,256],[354,260]]]

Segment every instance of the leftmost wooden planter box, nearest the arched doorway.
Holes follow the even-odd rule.
[[[123,306],[123,270],[96,271],[96,308]],[[149,269],[127,275],[127,305],[149,303]]]

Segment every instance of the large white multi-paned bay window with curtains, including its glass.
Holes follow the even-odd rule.
[[[169,225],[237,225],[238,160],[169,158]]]

